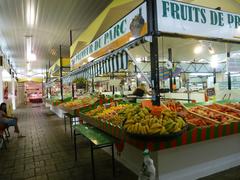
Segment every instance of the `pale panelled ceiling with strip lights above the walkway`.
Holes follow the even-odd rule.
[[[32,36],[32,51],[37,61],[31,69],[44,69],[54,63],[63,45],[69,54],[69,31],[73,39],[101,13],[112,0],[1,0],[0,47],[18,72],[26,72],[26,40]],[[29,11],[30,7],[30,11]],[[31,14],[29,19],[28,13]],[[30,23],[29,23],[30,20]]]

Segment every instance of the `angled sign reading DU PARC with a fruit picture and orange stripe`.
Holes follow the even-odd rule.
[[[71,58],[71,70],[91,56],[94,59],[111,52],[147,33],[146,3],[141,4],[109,30]]]

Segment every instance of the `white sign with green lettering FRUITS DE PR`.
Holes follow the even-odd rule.
[[[240,41],[240,15],[172,0],[156,0],[158,31]]]

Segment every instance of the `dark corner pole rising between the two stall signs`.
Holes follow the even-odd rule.
[[[147,0],[148,32],[152,35],[152,41],[150,42],[152,103],[159,106],[160,85],[156,7],[156,1]]]

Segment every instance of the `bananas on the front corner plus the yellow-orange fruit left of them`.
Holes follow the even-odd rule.
[[[176,112],[158,108],[158,111],[154,111],[152,114],[149,108],[132,104],[112,106],[106,109],[99,106],[87,112],[86,115],[122,126],[126,132],[135,135],[169,135],[182,131],[187,125]]]

